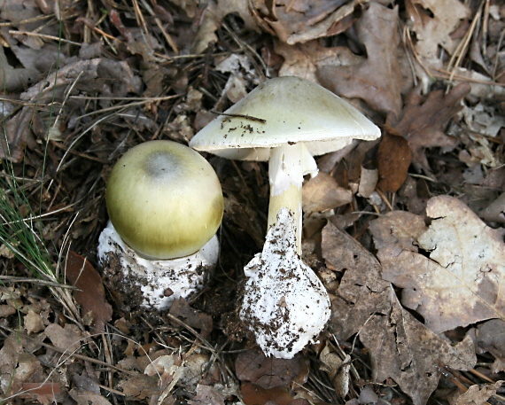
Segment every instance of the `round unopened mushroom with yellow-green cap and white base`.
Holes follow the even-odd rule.
[[[136,145],[114,165],[105,200],[98,261],[113,291],[161,310],[202,288],[218,258],[223,198],[198,152],[171,141]]]

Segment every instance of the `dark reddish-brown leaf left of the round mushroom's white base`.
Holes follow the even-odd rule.
[[[91,318],[93,331],[105,331],[105,323],[113,317],[113,308],[105,300],[104,284],[97,270],[80,254],[68,252],[66,278],[79,288],[74,298],[82,307],[82,317]]]

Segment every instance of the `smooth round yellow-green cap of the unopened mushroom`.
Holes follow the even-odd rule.
[[[213,167],[183,144],[150,141],[126,152],[105,191],[120,238],[136,253],[168,260],[196,253],[221,224],[221,184]]]

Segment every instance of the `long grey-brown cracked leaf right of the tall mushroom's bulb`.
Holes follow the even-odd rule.
[[[399,245],[408,245],[408,240],[412,238],[401,238]],[[322,230],[322,256],[327,266],[345,270],[331,302],[330,329],[338,339],[359,333],[370,350],[377,381],[393,378],[416,405],[423,405],[439,382],[437,362],[455,370],[473,367],[471,339],[453,347],[401,308],[372,254],[330,223]]]

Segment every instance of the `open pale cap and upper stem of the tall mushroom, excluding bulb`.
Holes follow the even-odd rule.
[[[300,253],[301,185],[304,175],[317,174],[313,156],[379,136],[376,125],[330,90],[285,76],[261,83],[200,130],[190,147],[233,160],[269,160],[268,228],[289,208]]]

